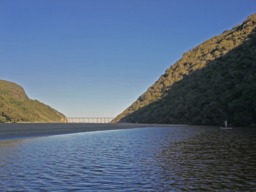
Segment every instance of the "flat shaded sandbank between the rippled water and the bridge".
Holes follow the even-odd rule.
[[[140,123],[0,123],[0,141],[90,131],[182,126],[187,125]]]

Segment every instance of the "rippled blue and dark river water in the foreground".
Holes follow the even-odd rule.
[[[0,191],[256,191],[256,129],[141,128],[0,142]]]

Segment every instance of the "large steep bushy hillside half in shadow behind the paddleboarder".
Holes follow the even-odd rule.
[[[112,122],[256,125],[256,14],[183,54]]]

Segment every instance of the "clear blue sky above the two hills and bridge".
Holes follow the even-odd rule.
[[[255,0],[0,0],[0,79],[67,117],[116,117]]]

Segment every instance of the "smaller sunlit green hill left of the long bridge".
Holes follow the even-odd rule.
[[[37,100],[29,99],[24,89],[0,80],[0,122],[61,122],[65,115]]]

